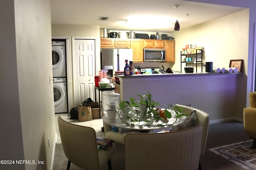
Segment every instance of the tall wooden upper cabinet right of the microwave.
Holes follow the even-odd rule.
[[[175,62],[175,41],[164,40],[165,46],[165,62]]]

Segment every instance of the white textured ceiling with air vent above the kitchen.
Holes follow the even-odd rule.
[[[182,30],[245,9],[184,0],[51,0],[51,8],[52,24],[152,32],[173,32],[176,20]]]

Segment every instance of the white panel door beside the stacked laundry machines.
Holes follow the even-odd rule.
[[[95,40],[74,40],[74,106],[94,100]]]

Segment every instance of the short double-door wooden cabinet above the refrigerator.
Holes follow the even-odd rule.
[[[128,39],[100,38],[101,48],[130,48]]]

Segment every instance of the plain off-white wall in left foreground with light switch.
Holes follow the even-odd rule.
[[[50,0],[0,2],[1,160],[44,164],[1,169],[50,169],[56,137]],[[50,148],[48,148],[48,137]]]

